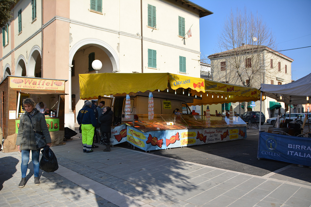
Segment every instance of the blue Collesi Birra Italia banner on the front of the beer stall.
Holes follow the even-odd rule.
[[[311,139],[260,132],[257,157],[311,166]]]

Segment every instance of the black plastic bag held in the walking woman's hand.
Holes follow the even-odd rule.
[[[41,152],[40,169],[48,173],[56,171],[58,169],[58,162],[51,148],[46,146]]]

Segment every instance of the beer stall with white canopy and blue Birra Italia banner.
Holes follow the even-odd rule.
[[[303,78],[284,85],[261,84],[264,95],[285,104],[309,104],[311,96],[311,73]],[[278,121],[278,119],[277,119]],[[286,121],[286,120],[285,120]],[[258,158],[280,160],[289,163],[311,166],[311,138],[309,131],[303,131],[300,124],[287,123],[273,128],[272,133],[260,132],[258,140]],[[280,126],[280,124],[276,124]],[[299,131],[298,136],[290,136],[290,131]],[[287,131],[287,132],[285,132]]]

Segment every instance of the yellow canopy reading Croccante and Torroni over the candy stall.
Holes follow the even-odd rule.
[[[160,90],[168,93],[197,96],[192,105],[223,104],[260,100],[256,88],[172,73],[93,73],[79,74],[80,99],[98,96]],[[202,97],[202,98],[201,98]]]

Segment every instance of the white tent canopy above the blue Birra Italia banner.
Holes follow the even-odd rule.
[[[261,84],[261,91],[266,96],[286,104],[308,104],[307,96],[311,96],[311,73],[284,85]]]

